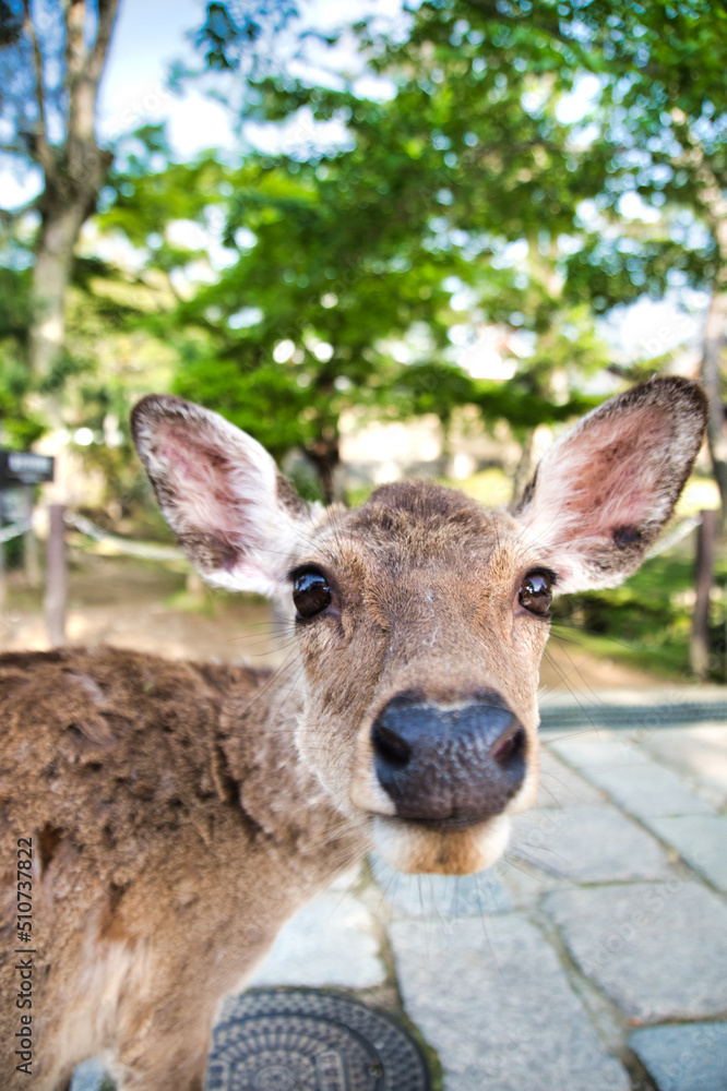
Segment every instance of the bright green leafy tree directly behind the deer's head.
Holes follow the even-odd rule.
[[[99,217],[103,230],[146,248],[140,275],[175,292],[172,311],[144,325],[164,328],[178,350],[176,389],[222,410],[278,457],[301,447],[327,496],[341,412],[396,400],[402,364],[388,338],[426,322],[428,337],[446,344],[451,291],[442,280],[452,262],[409,239],[406,217],[367,215],[370,179],[354,179],[359,161],[253,155],[228,168],[207,156],[159,173],[140,161],[138,171],[130,165],[133,180],[111,178],[117,196]],[[381,164],[372,169],[380,181]],[[206,240],[188,249],[175,241],[175,225],[208,228],[215,218],[226,267],[211,284],[186,285],[184,271],[206,260]]]

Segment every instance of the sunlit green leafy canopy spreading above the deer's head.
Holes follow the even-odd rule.
[[[723,169],[725,58],[715,45],[695,72],[689,50],[723,23],[706,0],[429,0],[330,31],[294,2],[210,3],[207,84],[278,151],[177,163],[154,127],[118,143],[46,384],[64,383],[75,423],[98,433],[158,352],[177,392],[277,457],[302,448],[329,492],[354,407],[446,424],[475,405],[527,444],[594,404],[610,367],[594,312],[714,271],[695,224],[700,171]],[[343,40],[359,58],[335,68]],[[597,83],[565,122],[584,73]],[[687,181],[665,172],[682,130],[703,157],[682,147]],[[658,221],[629,218],[629,192]],[[517,341],[508,383],[460,362],[493,326]],[[115,368],[112,352],[135,351],[141,373]]]

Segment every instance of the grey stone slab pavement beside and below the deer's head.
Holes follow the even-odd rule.
[[[372,861],[251,984],[400,1015],[436,1091],[727,1091],[727,723],[646,712],[544,733],[537,806],[493,868]]]

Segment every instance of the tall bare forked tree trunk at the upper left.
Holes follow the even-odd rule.
[[[95,104],[118,0],[58,7],[3,0],[0,9],[2,152],[39,170],[40,216],[28,300],[27,361],[53,385],[62,368],[65,299],[73,251],[94,211],[111,153],[98,146]]]

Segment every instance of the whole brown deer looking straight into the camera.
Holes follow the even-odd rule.
[[[494,863],[537,790],[552,598],[639,567],[705,419],[698,384],[654,379],[561,435],[511,509],[427,480],[325,509],[223,417],[143,398],[178,541],[274,599],[291,667],[0,657],[2,1086],[67,1091],[97,1056],[122,1091],[201,1091],[223,998],[338,873]]]

